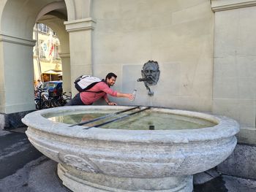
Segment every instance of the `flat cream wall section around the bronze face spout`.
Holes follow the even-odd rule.
[[[210,1],[97,0],[93,72],[115,72],[115,89],[138,89],[135,104],[211,110],[214,13]],[[140,70],[158,61],[159,82],[149,98]],[[117,99],[119,104],[130,104]]]

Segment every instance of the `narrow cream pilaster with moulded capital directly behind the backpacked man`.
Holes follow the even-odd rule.
[[[81,74],[92,74],[92,31],[95,21],[92,18],[64,22],[69,32],[70,77],[73,82]],[[76,93],[71,86],[72,95]]]

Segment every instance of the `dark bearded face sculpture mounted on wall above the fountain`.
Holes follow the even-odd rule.
[[[159,66],[157,61],[148,61],[143,66],[143,70],[141,70],[141,74],[143,78],[148,78],[147,83],[149,85],[156,85],[157,81],[159,80]]]

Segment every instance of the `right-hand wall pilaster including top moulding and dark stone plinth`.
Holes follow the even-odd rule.
[[[219,172],[256,178],[256,3],[211,0],[215,12],[213,112],[238,120],[233,154]]]

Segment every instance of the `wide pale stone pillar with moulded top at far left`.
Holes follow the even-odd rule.
[[[0,34],[0,112],[34,110],[35,41]]]

